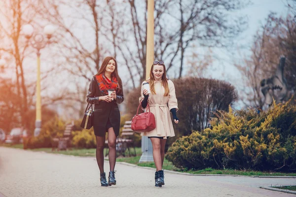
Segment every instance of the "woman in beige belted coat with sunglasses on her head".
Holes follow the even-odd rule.
[[[144,88],[144,84],[149,84],[149,89]],[[143,110],[150,107],[150,111],[155,116],[156,128],[152,131],[143,132],[141,135],[150,138],[153,148],[153,160],[156,166],[155,186],[164,185],[164,173],[162,164],[164,160],[164,148],[166,139],[175,136],[173,124],[170,116],[172,112],[174,122],[179,123],[176,111],[178,102],[175,93],[175,86],[166,77],[165,65],[162,61],[154,61],[150,70],[150,78],[142,83],[140,102]]]

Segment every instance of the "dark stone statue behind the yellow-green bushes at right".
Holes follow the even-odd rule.
[[[263,105],[268,107],[272,105],[273,99],[276,103],[286,102],[291,98],[291,92],[288,90],[287,80],[284,77],[285,57],[281,57],[275,74],[260,82],[261,92],[264,95]]]

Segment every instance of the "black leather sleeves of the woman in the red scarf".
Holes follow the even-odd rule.
[[[89,84],[89,89],[88,89],[88,94],[87,94],[87,102],[90,104],[101,104],[101,103],[108,103],[106,101],[103,100],[99,100],[99,97],[105,96],[99,86],[97,81],[95,80],[95,77],[92,77],[91,82]],[[119,93],[117,93],[116,95],[116,100],[111,101],[110,103],[117,103],[120,104],[123,102],[123,91],[121,89],[121,91]]]

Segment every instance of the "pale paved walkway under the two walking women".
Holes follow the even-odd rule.
[[[295,197],[259,186],[296,185],[296,178],[187,176],[116,164],[117,185],[101,187],[95,158],[0,147],[0,197]],[[105,162],[105,171],[109,164]]]

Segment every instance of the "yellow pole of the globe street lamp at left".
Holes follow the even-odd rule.
[[[36,87],[36,121],[34,136],[41,131],[41,88],[40,88],[40,51],[37,50],[37,87]]]

